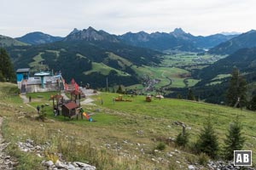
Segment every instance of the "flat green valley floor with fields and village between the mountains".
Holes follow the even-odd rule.
[[[137,88],[137,90],[141,90],[141,93],[155,93],[155,91],[161,89],[163,93],[170,94],[170,92],[163,88],[194,87],[195,84],[201,80],[192,77],[192,72],[201,70],[224,57],[224,55],[213,54],[198,55],[196,53],[166,52],[161,58],[160,65],[131,67],[142,80],[158,80],[150,90],[145,89],[148,88],[147,85],[143,88],[143,83],[125,88]]]

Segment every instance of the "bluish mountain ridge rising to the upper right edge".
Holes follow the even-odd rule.
[[[256,31],[251,30],[237,37],[231,38],[227,42],[222,42],[218,46],[209,50],[210,54],[233,54],[241,48],[256,47]]]

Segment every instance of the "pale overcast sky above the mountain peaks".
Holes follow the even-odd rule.
[[[193,35],[256,29],[255,0],[0,0],[0,35],[66,37],[89,26],[112,34],[177,27]]]

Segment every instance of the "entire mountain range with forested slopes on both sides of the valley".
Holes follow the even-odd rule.
[[[106,77],[109,86],[141,83],[137,67],[160,65],[166,50],[228,55],[191,72],[192,77],[201,80],[195,85],[195,93],[212,103],[224,99],[229,79],[226,75],[234,67],[240,69],[249,82],[256,82],[253,76],[256,71],[256,31],[202,37],[177,28],[169,33],[140,31],[117,36],[89,27],[74,29],[67,37],[53,37],[42,32],[28,33],[16,39],[1,36],[0,46],[7,48],[15,68],[62,71],[67,79],[86,80],[98,88],[105,86]],[[224,77],[217,83],[219,75]]]

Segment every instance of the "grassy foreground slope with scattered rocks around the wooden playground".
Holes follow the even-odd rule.
[[[11,87],[14,86],[0,83],[1,92],[9,93],[13,90]],[[173,125],[172,122],[180,121],[191,127],[189,130],[191,141],[195,141],[209,113],[212,115],[212,121],[221,142],[230,121],[236,117],[236,114],[241,116],[247,137],[244,149],[252,149],[253,161],[256,161],[256,140],[253,139],[256,137],[254,123],[256,115],[251,111],[177,99],[154,99],[153,102],[146,103],[143,96],[131,98],[132,102],[115,102],[113,105],[113,97],[119,94],[102,93],[94,96],[96,106],[83,106],[87,113],[94,113],[91,117],[96,122],[88,122],[84,119],[70,121],[62,116],[53,116],[52,102],[48,100],[51,94],[55,93],[27,94],[32,96],[31,105],[33,106],[49,104],[45,107],[48,122],[38,122],[29,118],[35,114],[35,111],[22,104],[18,96],[1,94],[1,116],[6,116],[3,135],[11,142],[9,150],[13,150],[12,153],[18,156],[20,168],[42,168],[40,162],[43,158],[39,159],[33,154],[20,152],[15,147],[16,141],[34,139],[37,144],[48,141],[51,144],[50,150],[61,152],[67,161],[89,161],[98,169],[124,169],[125,167],[179,169],[176,161],[181,161],[184,167],[180,169],[184,169],[187,167],[185,162],[195,163],[198,161],[197,156],[182,151],[181,154],[168,157],[166,153],[176,149],[172,144],[167,146],[166,150],[154,153],[152,150],[158,142],[154,142],[153,139],[175,138],[182,128]],[[124,96],[124,98],[130,97]],[[101,99],[103,99],[103,105],[100,104]],[[7,104],[12,105],[12,108],[6,107]],[[20,108],[20,105],[23,108]],[[28,118],[24,117],[25,115]],[[143,133],[137,133],[138,131]],[[110,149],[106,149],[105,144],[110,144]],[[152,161],[152,158],[157,160],[158,157],[163,157],[164,161],[160,163]]]

